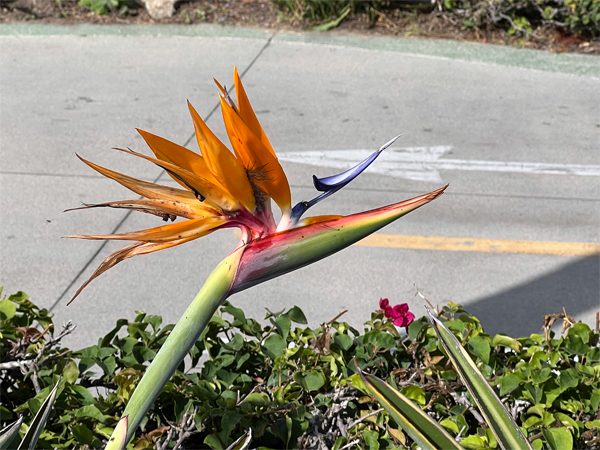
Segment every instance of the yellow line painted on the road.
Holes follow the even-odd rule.
[[[512,241],[443,236],[402,236],[397,234],[372,234],[354,245],[528,255],[591,256],[600,254],[600,244],[588,242]]]

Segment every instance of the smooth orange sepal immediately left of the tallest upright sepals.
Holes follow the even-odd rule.
[[[194,120],[198,146],[206,165],[219,183],[248,211],[253,213],[256,209],[254,192],[244,166],[206,126],[190,102],[188,102],[188,107]]]

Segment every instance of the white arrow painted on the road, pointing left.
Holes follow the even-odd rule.
[[[442,158],[452,146],[390,147],[367,171],[407,180],[442,183],[439,170],[471,170],[527,174],[600,176],[600,166],[582,164],[547,164],[528,162],[476,161]],[[319,167],[349,169],[373,153],[373,150],[321,150],[283,152],[282,161]]]

